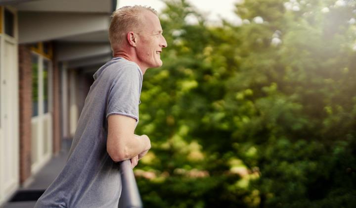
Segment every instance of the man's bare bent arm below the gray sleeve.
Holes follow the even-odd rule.
[[[146,135],[134,135],[135,122],[134,118],[125,115],[108,117],[106,150],[115,162],[131,159],[151,148]]]

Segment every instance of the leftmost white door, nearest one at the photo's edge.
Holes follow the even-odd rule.
[[[19,184],[17,45],[6,39],[1,45],[0,201]]]

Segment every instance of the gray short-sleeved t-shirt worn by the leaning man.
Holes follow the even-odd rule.
[[[94,74],[66,165],[35,208],[117,208],[121,195],[118,163],[106,151],[107,118],[138,122],[142,72],[124,58],[111,59]]]

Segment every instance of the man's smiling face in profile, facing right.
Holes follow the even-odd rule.
[[[167,47],[162,35],[162,26],[158,17],[151,11],[142,12],[143,28],[138,34],[137,57],[140,66],[154,68],[162,66],[162,48]]]

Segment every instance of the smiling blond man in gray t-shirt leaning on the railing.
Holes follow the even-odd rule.
[[[113,13],[109,39],[114,58],[94,74],[67,164],[35,208],[116,208],[121,195],[118,161],[138,159],[151,148],[134,135],[142,76],[162,65],[167,47],[157,13],[127,6]]]

